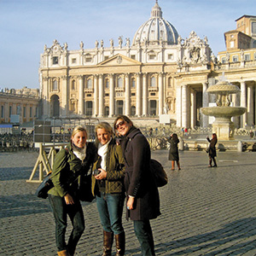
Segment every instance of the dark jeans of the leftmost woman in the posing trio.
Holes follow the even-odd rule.
[[[55,217],[55,240],[58,252],[68,250],[73,255],[84,232],[84,212],[80,201],[75,200],[75,204],[67,206],[61,196],[49,195],[49,204]],[[73,224],[73,230],[66,245],[67,215]]]

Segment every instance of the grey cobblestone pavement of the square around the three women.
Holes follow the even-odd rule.
[[[152,153],[169,177],[160,188],[162,214],[151,221],[156,255],[256,255],[256,153],[218,152],[218,168],[208,168],[205,152],[184,151],[181,171],[171,171],[167,154]],[[26,183],[37,157],[0,154],[0,255],[56,255],[49,202],[34,195],[38,183]],[[76,255],[102,255],[96,203],[83,208],[86,229]],[[124,218],[124,226],[125,255],[140,255],[132,222]]]

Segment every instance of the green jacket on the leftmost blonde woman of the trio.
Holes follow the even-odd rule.
[[[71,144],[67,148],[62,148],[55,155],[55,162],[51,175],[54,187],[49,189],[48,194],[63,197],[64,195],[74,195],[79,188],[79,175],[87,173],[96,157],[96,147],[93,143],[86,143],[86,157],[84,161],[73,154]]]

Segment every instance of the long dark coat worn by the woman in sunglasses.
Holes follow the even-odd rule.
[[[149,169],[150,147],[142,132],[131,127],[121,140],[125,158],[125,191],[135,197],[135,208],[127,210],[126,217],[146,220],[160,215],[160,198]]]

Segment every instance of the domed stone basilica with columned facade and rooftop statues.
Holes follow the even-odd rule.
[[[81,42],[77,50],[57,40],[49,48],[45,45],[39,68],[43,114],[158,117],[167,113],[180,127],[207,126],[209,119],[201,116],[200,108],[211,102],[207,87],[223,72],[232,82],[230,66],[222,66],[212,54],[207,37],[199,38],[192,31],[181,38],[156,1],[150,19],[132,41],[119,37],[116,46],[113,39],[108,45],[96,41],[94,49],[84,49]],[[255,88],[251,93],[255,102]],[[234,100],[243,101],[247,100]],[[250,104],[255,109],[255,103]],[[253,123],[255,111],[250,119]],[[247,115],[235,121],[237,126],[245,124]]]

